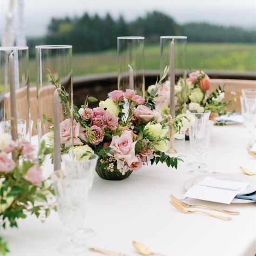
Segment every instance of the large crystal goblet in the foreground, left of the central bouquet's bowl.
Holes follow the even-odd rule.
[[[52,175],[57,210],[69,236],[69,242],[58,248],[62,253],[78,254],[88,250],[84,239],[88,232],[85,228],[86,202],[97,160],[97,155],[91,155],[85,161],[75,161],[67,155],[63,169]]]

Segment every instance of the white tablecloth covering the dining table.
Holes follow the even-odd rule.
[[[205,159],[209,172],[243,175],[240,165],[256,171],[256,161],[245,150],[244,135],[242,125],[214,127],[209,156]],[[186,162],[191,161],[189,141],[185,154]],[[123,181],[106,181],[95,176],[88,199],[87,222],[96,236],[88,240],[88,246],[135,256],[131,242],[136,240],[168,256],[254,256],[255,203],[204,202],[240,211],[230,222],[199,214],[185,215],[170,205],[168,195],[183,196],[184,181],[190,177],[188,170],[186,163],[179,162],[178,170],[162,164],[148,166]],[[9,256],[60,256],[56,247],[67,239],[54,212],[45,223],[35,217],[20,220],[19,229],[7,229],[2,235],[9,242]]]

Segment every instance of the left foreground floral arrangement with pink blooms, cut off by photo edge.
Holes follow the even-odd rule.
[[[49,215],[50,209],[43,201],[47,202],[53,190],[40,166],[50,153],[52,149],[46,148],[44,141],[35,157],[34,147],[26,140],[12,141],[9,135],[0,134],[0,229],[17,227],[17,220],[27,215]],[[7,242],[0,236],[0,254],[8,251]]]

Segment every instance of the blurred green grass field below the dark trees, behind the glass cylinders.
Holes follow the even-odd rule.
[[[73,55],[74,76],[117,71],[117,51]],[[145,70],[160,68],[160,45],[145,46]],[[188,43],[187,69],[256,71],[256,44]],[[35,81],[35,63],[30,61],[30,79]]]

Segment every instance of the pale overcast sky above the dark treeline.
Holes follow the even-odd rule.
[[[9,0],[0,0],[0,28]],[[84,12],[114,18],[123,14],[133,20],[158,10],[176,22],[206,21],[226,26],[256,27],[256,0],[24,0],[26,34],[42,36],[52,17],[81,15]]]

